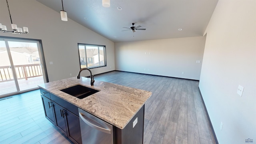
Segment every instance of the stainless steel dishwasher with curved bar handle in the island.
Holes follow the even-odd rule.
[[[113,126],[78,108],[83,144],[113,144]]]

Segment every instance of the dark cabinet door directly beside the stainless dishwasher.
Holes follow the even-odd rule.
[[[74,143],[82,144],[79,117],[72,112],[65,110],[66,124],[68,128],[68,138]]]

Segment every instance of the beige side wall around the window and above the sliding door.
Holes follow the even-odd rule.
[[[18,27],[27,26],[29,34],[0,32],[0,36],[42,40],[49,81],[76,76],[80,70],[78,43],[106,45],[107,67],[92,69],[93,74],[115,69],[114,42],[68,19],[60,20],[56,12],[36,0],[9,0],[12,22]],[[0,0],[0,23],[11,30],[6,0]],[[50,64],[53,62],[53,64]],[[110,68],[111,67],[111,68]],[[72,74],[72,76],[70,76]],[[82,72],[88,76],[88,72]]]

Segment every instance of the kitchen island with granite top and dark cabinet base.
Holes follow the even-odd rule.
[[[79,99],[61,91],[76,85],[86,86],[99,92]],[[95,81],[94,86],[90,86],[90,78],[85,77],[80,79],[68,78],[38,86],[40,87],[46,118],[58,128],[61,127],[58,126],[58,123],[61,122],[58,122],[57,113],[60,113],[61,118],[65,119],[66,129],[79,128],[78,108],[80,108],[113,126],[114,144],[143,142],[144,104],[151,96],[151,92],[102,81]],[[56,110],[56,108],[60,110]],[[52,114],[49,114],[50,111]],[[76,121],[76,125],[72,122],[69,122],[71,125],[68,124],[68,116],[72,116],[72,114],[74,115],[72,121]],[[72,136],[72,131],[66,130],[66,134],[65,132],[64,134],[70,140],[73,137],[78,139],[72,140],[73,142],[81,143],[79,136]]]

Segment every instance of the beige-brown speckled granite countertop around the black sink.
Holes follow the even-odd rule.
[[[60,91],[78,84],[100,91],[83,99]],[[145,90],[98,80],[95,80],[94,86],[91,86],[90,78],[85,77],[80,79],[73,77],[38,86],[120,129],[130,122],[152,95]]]

